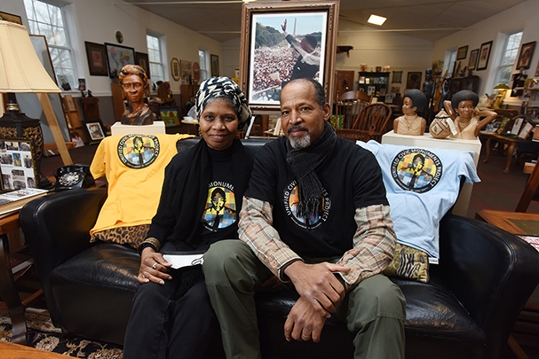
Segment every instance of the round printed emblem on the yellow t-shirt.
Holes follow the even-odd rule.
[[[152,135],[126,135],[118,142],[118,157],[129,168],[147,168],[159,156],[159,140]]]

